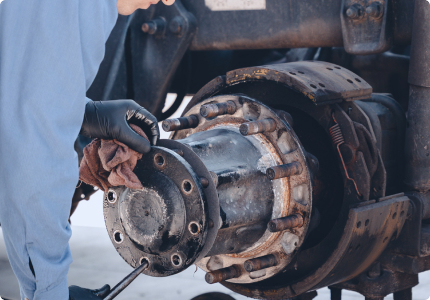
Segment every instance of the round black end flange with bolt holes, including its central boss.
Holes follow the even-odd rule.
[[[117,187],[105,194],[103,210],[112,244],[132,267],[146,259],[144,274],[178,273],[195,262],[207,237],[200,178],[184,158],[160,147],[144,154],[134,172],[142,190]]]

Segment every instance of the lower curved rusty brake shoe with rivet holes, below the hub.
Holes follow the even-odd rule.
[[[256,299],[285,299],[351,279],[365,271],[381,255],[389,241],[398,236],[408,208],[409,198],[403,195],[352,208],[336,250],[323,266],[305,280],[286,283],[284,287],[276,289],[264,285],[223,284],[235,292]]]

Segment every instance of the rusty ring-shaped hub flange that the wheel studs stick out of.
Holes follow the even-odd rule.
[[[304,216],[303,227],[275,233],[271,233],[266,229],[263,236],[249,249],[239,253],[217,254],[216,256],[206,257],[198,263],[201,268],[207,271],[215,270],[213,269],[214,267],[211,267],[214,265],[212,261],[222,261],[222,263],[215,264],[215,268],[219,268],[219,266],[225,268],[230,265],[240,265],[243,268],[243,264],[246,260],[272,253],[279,253],[282,257],[280,263],[265,270],[264,274],[263,272],[261,272],[261,275],[244,271],[240,277],[229,280],[237,283],[258,282],[282,270],[297,252],[295,249],[298,249],[303,243],[311,212],[312,187],[310,171],[304,155],[305,151],[290,125],[270,108],[252,99],[236,95],[210,98],[192,107],[185,116],[197,115],[200,112],[201,106],[227,101],[234,101],[237,107],[234,114],[220,115],[216,118],[209,119],[201,117],[198,127],[175,132],[172,134],[172,137],[193,146],[190,138],[199,132],[210,132],[211,130],[217,129],[238,132],[240,125],[246,122],[273,119],[275,123],[274,128],[270,128],[268,131],[263,130],[262,133],[246,137],[254,145],[257,145],[260,149],[264,149],[260,167],[262,175],[264,176],[268,167],[295,162],[302,165],[301,169],[303,170],[300,174],[292,174],[292,176],[288,178],[280,178],[273,181],[275,201],[271,214],[272,219],[277,219],[297,212],[302,213]],[[228,152],[227,149],[226,151]],[[239,155],[243,155],[243,153]],[[203,155],[200,155],[200,157],[204,160]],[[221,157],[219,157],[219,159],[221,159]],[[233,157],[229,157],[228,159],[233,159]],[[253,181],[250,181],[250,183],[252,182]],[[262,182],[259,183],[260,187],[262,187],[262,184]],[[249,188],[252,189],[255,187],[249,186]],[[215,245],[216,244],[217,242],[215,242]],[[211,252],[209,254],[211,254]]]

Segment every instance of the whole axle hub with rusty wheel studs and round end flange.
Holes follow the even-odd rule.
[[[163,128],[177,130],[172,139],[135,169],[143,190],[118,187],[105,196],[117,251],[133,267],[147,259],[151,276],[193,263],[210,283],[281,272],[303,243],[312,209],[309,155],[291,122],[288,113],[237,95],[166,120]]]

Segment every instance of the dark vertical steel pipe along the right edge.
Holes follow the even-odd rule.
[[[405,137],[405,183],[430,190],[430,5],[415,1],[409,67],[408,127]]]

